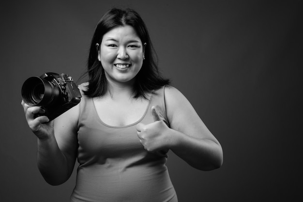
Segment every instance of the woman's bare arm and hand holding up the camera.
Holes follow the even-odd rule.
[[[22,101],[30,129],[38,137],[37,164],[45,181],[51,185],[64,183],[73,172],[77,149],[78,106],[48,122],[40,107],[30,107]]]

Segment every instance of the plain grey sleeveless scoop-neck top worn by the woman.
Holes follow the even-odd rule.
[[[105,124],[92,98],[82,95],[79,105],[79,166],[72,202],[178,201],[167,171],[167,154],[146,151],[136,131],[137,123],[154,122],[152,106],[160,108],[167,120],[164,87],[154,91],[140,120],[123,127]]]

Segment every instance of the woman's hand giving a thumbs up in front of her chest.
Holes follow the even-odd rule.
[[[170,142],[167,121],[161,115],[160,110],[152,106],[154,122],[151,124],[138,123],[136,125],[137,135],[140,143],[149,152],[166,151]]]

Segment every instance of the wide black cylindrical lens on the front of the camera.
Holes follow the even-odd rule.
[[[22,99],[31,106],[53,104],[59,97],[59,87],[37,76],[28,78],[21,90]]]

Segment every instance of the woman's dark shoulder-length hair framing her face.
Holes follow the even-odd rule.
[[[134,85],[134,98],[144,97],[152,90],[168,85],[170,81],[160,76],[157,66],[157,55],[142,18],[133,9],[112,8],[103,15],[98,22],[92,40],[88,58],[89,85],[84,94],[89,97],[98,97],[106,93],[107,79],[101,62],[97,59],[98,50],[96,43],[101,44],[103,35],[117,26],[130,25],[138,34],[145,46],[145,59],[141,70],[136,75]]]

